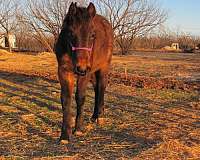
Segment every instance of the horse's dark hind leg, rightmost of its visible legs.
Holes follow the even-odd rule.
[[[95,90],[95,107],[91,120],[96,121],[103,114],[104,111],[104,92],[107,84],[107,76],[105,71],[97,71],[95,73],[96,83],[94,85]]]

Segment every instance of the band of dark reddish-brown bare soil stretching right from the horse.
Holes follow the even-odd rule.
[[[176,78],[155,78],[137,75],[126,75],[123,73],[110,73],[110,83],[124,84],[136,88],[145,89],[180,89],[200,91],[200,80],[184,81]]]

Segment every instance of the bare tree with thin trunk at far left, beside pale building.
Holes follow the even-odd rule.
[[[17,18],[19,5],[13,0],[0,0],[0,31],[8,40],[9,51],[12,51],[10,34],[17,28]]]

